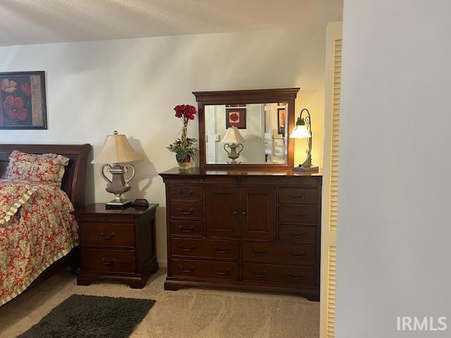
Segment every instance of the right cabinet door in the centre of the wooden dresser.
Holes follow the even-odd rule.
[[[276,239],[276,187],[241,187],[241,234]]]

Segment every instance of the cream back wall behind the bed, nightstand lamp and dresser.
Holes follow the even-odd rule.
[[[0,48],[0,71],[46,71],[49,121],[49,130],[1,130],[0,143],[87,142],[96,155],[106,134],[125,133],[147,157],[136,165],[138,177],[128,196],[160,204],[157,251],[164,264],[165,192],[157,174],[177,165],[166,149],[181,128],[173,107],[195,104],[193,91],[302,87],[297,111],[311,111],[314,160],[321,163],[323,19],[299,30]],[[197,137],[197,120],[190,124],[189,134]],[[302,155],[303,149],[298,156]],[[97,165],[89,168],[89,195],[109,201],[98,170]]]

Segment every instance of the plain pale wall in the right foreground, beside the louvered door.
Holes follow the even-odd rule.
[[[338,338],[451,336],[450,13],[345,0]],[[448,329],[396,332],[415,315]]]

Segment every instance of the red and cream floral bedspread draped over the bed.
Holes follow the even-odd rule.
[[[0,306],[78,244],[72,211],[51,185],[0,180]]]

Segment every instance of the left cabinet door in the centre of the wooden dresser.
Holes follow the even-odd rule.
[[[240,189],[237,186],[205,187],[204,212],[207,236],[240,236]]]

